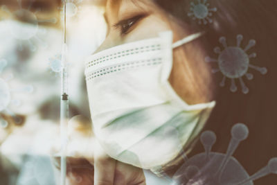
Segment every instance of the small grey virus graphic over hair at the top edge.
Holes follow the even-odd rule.
[[[211,16],[213,12],[217,11],[217,8],[209,8],[210,4],[207,0],[198,0],[198,3],[194,1],[190,3],[190,12],[188,12],[188,17],[193,17],[193,20],[198,19],[199,24],[212,23],[213,20]]]

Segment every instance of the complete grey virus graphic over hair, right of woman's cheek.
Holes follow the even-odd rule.
[[[235,79],[240,80],[240,85],[242,87],[242,92],[244,94],[249,93],[249,88],[246,87],[242,77],[245,76],[248,80],[253,79],[253,74],[249,73],[249,68],[256,69],[260,71],[260,73],[267,73],[267,68],[265,67],[256,67],[250,64],[251,58],[256,58],[256,53],[247,54],[247,51],[251,49],[251,47],[255,46],[256,41],[251,39],[249,44],[242,49],[240,44],[242,42],[242,35],[237,35],[237,46],[227,46],[226,38],[220,37],[220,43],[224,46],[223,51],[220,50],[220,47],[216,47],[214,49],[215,53],[219,56],[217,59],[213,59],[210,57],[206,57],[206,62],[217,62],[218,69],[213,69],[213,73],[217,73],[219,71],[223,74],[223,79],[220,82],[220,86],[224,87],[226,78],[231,79],[231,87],[230,90],[235,92],[238,90],[238,87],[235,85]]]

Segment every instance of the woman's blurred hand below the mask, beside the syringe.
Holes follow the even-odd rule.
[[[69,121],[67,179],[70,185],[146,185],[143,170],[111,159],[83,116]],[[57,160],[56,167],[60,168]]]

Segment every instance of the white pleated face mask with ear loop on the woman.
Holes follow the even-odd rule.
[[[215,102],[188,105],[168,82],[172,48],[199,35],[172,45],[168,31],[88,58],[91,118],[108,155],[140,168],[156,168],[177,157],[199,133]]]

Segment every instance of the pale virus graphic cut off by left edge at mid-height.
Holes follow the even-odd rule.
[[[3,69],[6,67],[7,62],[6,60],[0,60],[0,72],[3,71]],[[19,106],[21,105],[21,101],[17,99],[12,98],[12,94],[16,93],[32,93],[33,92],[33,86],[27,85],[25,87],[16,87],[12,88],[8,84],[10,80],[12,80],[13,76],[10,74],[6,78],[0,77],[0,113],[8,114],[12,116],[15,119],[15,122],[20,122],[18,120],[17,116],[9,109],[10,105]],[[1,125],[6,125],[7,122],[3,121],[3,118],[0,117]]]

